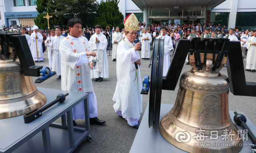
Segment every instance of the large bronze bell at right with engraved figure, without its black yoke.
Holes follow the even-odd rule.
[[[225,75],[219,72],[226,64],[227,57],[224,57],[220,69],[216,71],[212,71],[212,54],[207,54],[206,64],[199,71],[193,58],[194,55],[189,56],[192,69],[184,72],[180,77],[176,102],[170,112],[162,118],[159,131],[172,145],[190,153],[238,153],[242,147],[234,146],[243,141],[236,140],[238,128],[233,124],[229,115],[230,82]],[[201,135],[207,137],[204,141],[195,139],[200,133],[198,129],[202,129]],[[226,141],[222,140],[224,130],[228,130],[232,139],[229,137]],[[211,131],[214,132],[211,133]],[[177,141],[179,132],[183,133],[183,139],[190,138],[189,141]],[[209,139],[211,134],[218,136],[212,136],[214,139]],[[195,146],[195,143],[199,146]],[[206,147],[201,145],[202,143],[211,145]],[[228,146],[222,147],[218,143],[226,143]]]

